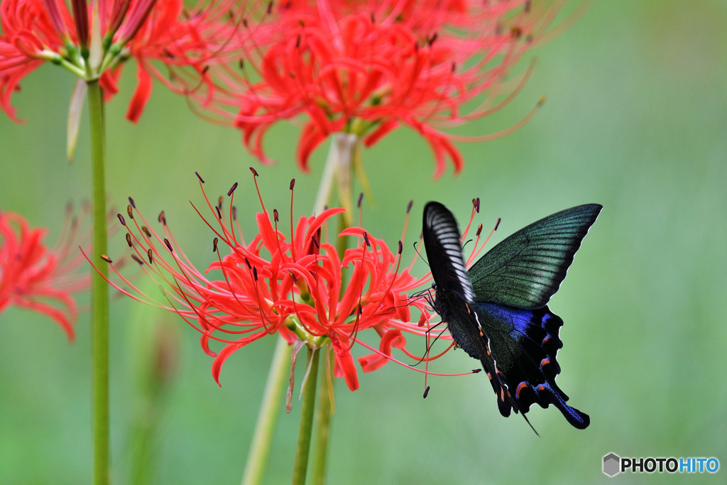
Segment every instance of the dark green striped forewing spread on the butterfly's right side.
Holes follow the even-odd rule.
[[[475,300],[517,308],[545,306],[602,208],[586,204],[557,212],[494,246],[470,268]]]

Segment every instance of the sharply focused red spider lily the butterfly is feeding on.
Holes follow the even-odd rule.
[[[203,181],[199,180],[204,193]],[[293,186],[294,180],[291,191]],[[359,358],[365,372],[395,360],[392,348],[422,360],[404,348],[403,332],[428,334],[431,313],[427,300],[409,299],[406,294],[428,280],[414,278],[409,268],[400,270],[401,241],[398,252],[393,253],[384,241],[363,228],[348,228],[338,236],[350,236],[358,242],[341,254],[329,241],[327,224],[343,209],[326,209],[320,215],[300,217],[294,223],[291,196],[287,228],[280,223],[277,210],[273,210],[270,219],[260,198],[262,212],[255,217],[259,233],[246,242],[233,206],[236,188],[237,184],[228,192],[229,204],[220,197],[213,205],[204,196],[212,215],[211,222],[205,223],[215,235],[212,246],[217,254],[217,261],[204,273],[192,265],[177,244],[164,212],[158,217],[163,231],[160,234],[150,228],[130,200],[130,220],[119,215],[121,224],[129,231],[126,242],[142,270],[164,289],[166,301],[158,302],[140,291],[113,265],[121,282],[110,283],[135,300],[179,313],[198,330],[203,350],[215,357],[212,375],[218,384],[222,364],[233,352],[276,333],[289,342],[302,340],[313,348],[330,343],[336,375],[344,377],[351,390],[358,388],[350,353],[354,343],[374,351],[371,356]],[[201,215],[197,207],[195,210]],[[229,248],[225,256],[220,254],[222,243]],[[212,272],[217,278],[208,276]],[[418,321],[411,321],[411,308],[421,313]],[[369,328],[377,332],[378,348],[361,339],[361,331]],[[443,338],[451,340],[448,335]],[[214,353],[210,340],[222,342],[225,347]]]

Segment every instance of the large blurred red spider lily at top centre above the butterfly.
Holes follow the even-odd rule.
[[[262,161],[268,129],[283,119],[305,120],[297,148],[301,169],[310,153],[335,132],[374,145],[406,125],[433,151],[435,177],[462,157],[456,127],[501,108],[521,89],[504,84],[510,68],[542,37],[559,1],[446,0],[288,1],[268,7],[259,23],[246,23],[253,47],[243,47],[242,75],[219,66],[214,113],[236,109],[234,124]],[[272,4],[271,4],[272,5]],[[252,68],[248,67],[252,66]],[[224,71],[223,71],[224,70]],[[518,81],[517,79],[513,81]],[[463,107],[488,94],[478,107]],[[207,101],[207,100],[205,100]]]

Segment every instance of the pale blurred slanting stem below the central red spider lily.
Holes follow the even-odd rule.
[[[290,350],[291,346],[288,345],[288,342],[283,337],[278,337],[275,353],[273,353],[273,363],[270,365],[268,373],[268,382],[265,383],[265,393],[257,414],[255,431],[247,453],[242,485],[260,484],[265,473],[265,465],[268,464],[270,455],[270,443],[273,441],[273,433],[275,433],[276,422],[278,422],[280,400],[286,381],[286,366],[290,362]]]

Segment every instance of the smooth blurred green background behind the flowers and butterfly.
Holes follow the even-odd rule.
[[[538,438],[521,417],[500,417],[481,374],[432,378],[424,400],[421,374],[388,364],[360,373],[355,393],[337,382],[329,483],[607,481],[601,460],[608,452],[717,457],[727,464],[726,25],[721,0],[595,1],[572,28],[536,49],[533,76],[501,115],[466,127],[468,135],[498,131],[547,96],[537,116],[513,135],[460,145],[466,167],[459,177],[450,169],[431,180],[430,151],[407,130],[364,153],[376,204],[364,206],[364,225],[393,245],[409,199],[415,201],[413,238],[426,201],[442,201],[462,221],[470,199],[479,196],[478,222],[489,228],[502,217],[495,242],[560,209],[603,204],[551,302],[566,322],[558,384],[572,405],[590,414],[591,425],[574,430],[556,409],[536,406],[529,418]],[[313,156],[312,173],[300,174],[293,162],[297,129],[281,124],[266,145],[278,164],[262,167],[238,132],[206,124],[161,87],[140,123],[129,124],[124,113],[132,71],[108,106],[114,204],[123,208],[130,195],[150,218],[164,209],[200,267],[210,262],[212,235],[188,204],[201,200],[195,170],[211,196],[241,183],[236,201],[248,233],[259,207],[251,165],[260,172],[268,207],[286,207],[288,183],[296,177],[297,215],[308,213],[326,147]],[[14,98],[27,122],[0,116],[0,207],[49,226],[49,242],[60,230],[66,201],[89,195],[85,124],[76,161],[64,158],[72,87],[65,71],[45,66]],[[110,253],[124,246],[119,233]],[[406,244],[406,254],[411,251]],[[126,298],[112,305],[114,481],[129,481],[127,427],[136,388],[130,349],[148,337],[140,327],[171,320],[179,330],[179,368],[158,418],[154,481],[238,483],[274,341],[260,340],[229,358],[218,388],[212,359],[179,318]],[[89,481],[87,313],[76,328],[76,343],[68,345],[47,318],[15,309],[0,315],[1,483]],[[439,372],[474,367],[462,351],[435,363]],[[292,414],[282,414],[268,483],[290,480],[299,413],[294,401]],[[648,478],[723,481],[724,473]]]

